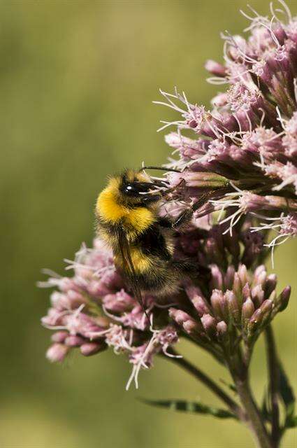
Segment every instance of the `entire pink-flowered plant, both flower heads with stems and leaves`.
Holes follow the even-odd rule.
[[[157,102],[181,115],[161,127],[177,127],[166,142],[178,159],[166,165],[176,172],[152,178],[157,190],[151,193],[169,192],[159,218],[207,198],[172,241],[174,260],[187,260],[196,275],[181,275],[177,292],[164,297],[143,291],[140,303],[113,252],[96,238],[92,248],[83,244],[74,261],[66,260],[73,276],[50,273],[40,283],[55,288],[42,318],[54,331],[50,361],[61,362],[73,350],[92,356],[112,349],[131,364],[128,389],[138,387],[140,371],[152,367],[155,356],[166,357],[210,388],[224,409],[182,400],[152,404],[238,419],[261,448],[279,447],[284,431],[297,423],[270,325],[286,309],[291,289],[279,290],[264,265],[270,248],[297,235],[297,18],[280,3],[287,20],[273,6],[269,19],[250,8],[249,36],[222,36],[224,64],[208,61],[206,68],[210,82],[227,89],[212,99],[210,111],[176,89],[161,91],[164,102]],[[249,366],[262,333],[269,381],[260,407]],[[181,338],[226,367],[234,398],[176,351]]]

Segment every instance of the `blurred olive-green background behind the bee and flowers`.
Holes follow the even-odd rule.
[[[108,174],[161,164],[169,155],[152,105],[175,85],[208,104],[205,59],[222,60],[219,31],[247,26],[246,1],[1,1],[1,405],[3,448],[252,447],[238,423],[146,407],[147,398],[212,395],[166,360],[142,372],[126,392],[130,366],[105,352],[45,360],[50,332],[39,320],[49,290],[42,267],[64,272],[81,241],[92,243],[93,207]],[[268,1],[251,1],[260,13]],[[294,1],[287,2],[293,13]],[[172,114],[172,117],[175,115]],[[175,116],[176,117],[176,116]],[[280,248],[280,285],[292,283],[289,310],[277,318],[277,342],[296,384],[296,244]],[[226,374],[204,353],[189,354],[212,376]],[[263,344],[253,363],[263,388]],[[195,359],[196,356],[196,359]],[[261,398],[258,396],[258,398]],[[284,447],[296,447],[291,430]]]

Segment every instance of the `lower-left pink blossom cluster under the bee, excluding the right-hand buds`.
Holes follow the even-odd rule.
[[[137,385],[140,368],[152,365],[154,353],[166,353],[178,342],[178,333],[169,322],[159,330],[153,328],[153,317],[160,318],[163,305],[145,297],[147,313],[157,308],[149,322],[140,304],[125,290],[113,254],[99,239],[93,248],[83,245],[67,269],[74,269],[72,278],[51,276],[39,283],[41,287],[59,288],[52,293],[51,307],[41,319],[46,328],[55,331],[48,359],[62,361],[74,348],[91,356],[112,347],[115,353],[128,355],[133,365],[131,379]]]

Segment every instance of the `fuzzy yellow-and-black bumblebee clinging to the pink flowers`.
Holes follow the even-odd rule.
[[[98,235],[113,249],[116,267],[142,306],[142,293],[171,295],[182,278],[197,273],[193,263],[173,259],[173,240],[201,204],[174,220],[159,216],[161,200],[173,189],[166,188],[166,181],[152,181],[144,169],[127,169],[110,178],[96,202]]]

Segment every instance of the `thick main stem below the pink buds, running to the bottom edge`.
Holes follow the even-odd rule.
[[[259,409],[252,398],[248,379],[234,377],[234,381],[236,383],[236,390],[238,391],[242,406],[247,413],[247,424],[252,430],[257,447],[273,448],[273,444],[270,440],[266,427],[264,426]]]

